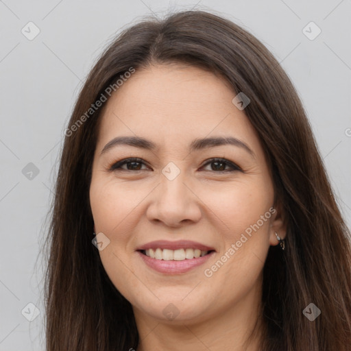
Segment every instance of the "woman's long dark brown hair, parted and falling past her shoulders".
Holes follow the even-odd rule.
[[[197,10],[145,19],[125,29],[82,87],[65,133],[47,237],[47,350],[138,346],[132,306],[112,285],[91,242],[88,194],[101,108],[89,109],[102,95],[108,98],[106,89],[131,68],[172,62],[219,73],[234,91],[250,97],[245,114],[269,158],[287,235],[285,251],[270,247],[263,269],[266,335],[261,350],[350,350],[350,230],[298,94],[252,34]],[[302,313],[310,303],[321,311],[313,322]]]

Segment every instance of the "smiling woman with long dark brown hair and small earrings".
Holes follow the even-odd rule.
[[[202,11],[126,29],[65,134],[47,350],[350,350],[350,231],[254,36]]]

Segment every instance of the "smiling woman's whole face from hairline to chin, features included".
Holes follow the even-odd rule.
[[[260,299],[274,231],[284,235],[263,148],[235,95],[213,73],[156,65],[104,108],[90,206],[104,268],[138,316],[203,321]]]

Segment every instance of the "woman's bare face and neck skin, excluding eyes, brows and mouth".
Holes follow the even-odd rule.
[[[95,232],[110,240],[99,251],[110,280],[133,306],[141,343],[149,350],[258,350],[258,333],[245,340],[259,317],[262,272],[274,232],[285,237],[274,186],[256,131],[232,99],[223,78],[195,66],[153,64],[119,87],[106,103],[90,184]],[[112,147],[116,136],[142,136],[154,151],[129,145]],[[189,153],[195,138],[234,136],[254,152],[221,145]],[[144,163],[109,171],[124,158]],[[225,158],[242,171],[220,172],[210,158]],[[206,161],[206,162],[205,162]],[[162,169],[173,162],[179,175],[169,180]],[[132,165],[129,165],[132,166]],[[223,166],[224,167],[224,166]],[[230,166],[225,166],[230,170]],[[245,229],[274,207],[252,237],[213,276],[213,266]],[[214,247],[204,265],[184,274],[161,274],[141,260],[137,248],[149,241],[188,239]],[[228,254],[227,254],[228,256]],[[170,320],[162,311],[172,303]]]

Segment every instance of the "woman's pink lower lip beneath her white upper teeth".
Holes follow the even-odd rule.
[[[155,271],[166,274],[180,274],[185,273],[186,271],[190,271],[191,269],[198,267],[199,265],[203,265],[214,253],[215,252],[213,251],[209,254],[206,254],[205,256],[191,259],[186,258],[183,261],[167,261],[156,260],[156,258],[151,258],[138,251],[138,254],[141,256],[146,265],[148,265]]]

